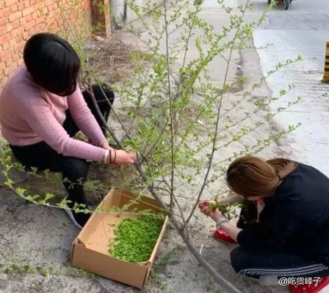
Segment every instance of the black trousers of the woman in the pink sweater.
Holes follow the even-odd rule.
[[[98,107],[107,121],[109,112],[111,111],[111,106],[113,105],[114,93],[105,84],[102,84],[102,88],[110,103],[108,103],[105,99],[99,86],[93,86],[93,91]],[[90,94],[87,91],[84,91],[82,94],[89,109],[92,111],[97,122],[101,126],[103,133],[106,134]],[[77,132],[79,132],[79,128],[72,119],[69,111],[66,111],[66,120],[63,127],[70,136],[74,136]],[[83,183],[87,179],[89,167],[89,163],[86,162],[86,160],[75,157],[65,157],[64,155],[57,153],[45,142],[22,147],[10,145],[10,148],[16,159],[27,168],[37,167],[38,170],[49,169],[53,172],[61,172],[64,187],[68,192],[67,199],[72,201],[69,205],[70,207],[74,203],[85,204],[87,202],[83,191]],[[64,179],[67,179],[67,181]]]

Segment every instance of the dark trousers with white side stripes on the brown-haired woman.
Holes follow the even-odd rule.
[[[244,229],[257,221],[257,205],[244,201],[237,227]],[[231,251],[231,264],[240,276],[259,278],[278,277],[327,277],[329,268],[312,259],[283,252],[251,253],[241,246]]]

